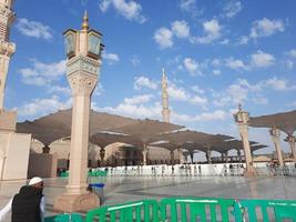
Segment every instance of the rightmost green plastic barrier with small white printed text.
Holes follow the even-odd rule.
[[[236,222],[283,221],[296,222],[296,201],[288,200],[241,200],[236,201]]]

